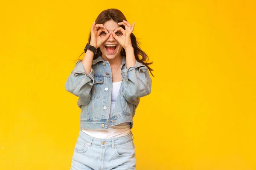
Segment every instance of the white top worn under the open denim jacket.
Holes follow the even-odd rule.
[[[121,87],[121,84],[122,82],[112,82],[111,107],[110,107],[109,117],[112,116],[112,112],[116,104],[116,98],[118,96],[118,92]],[[110,126],[108,129],[103,129],[103,130],[85,129],[82,131],[87,135],[93,136],[94,138],[111,139],[111,138],[128,135],[131,132],[131,126],[130,126],[130,122],[124,122],[115,126]]]

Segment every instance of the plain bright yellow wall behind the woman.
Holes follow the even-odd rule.
[[[138,170],[256,170],[254,0],[0,3],[0,170],[68,170],[79,134],[64,84],[107,8],[154,62],[134,117]]]

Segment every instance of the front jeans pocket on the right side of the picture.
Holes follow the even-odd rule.
[[[116,145],[115,151],[117,156],[134,156],[135,150],[133,141]]]

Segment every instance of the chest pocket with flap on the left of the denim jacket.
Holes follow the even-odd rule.
[[[94,76],[94,84],[91,91],[91,100],[98,99],[102,93],[102,84],[103,77],[102,76]]]

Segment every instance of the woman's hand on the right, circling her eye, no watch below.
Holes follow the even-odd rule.
[[[135,23],[133,23],[131,26],[130,23],[124,20],[123,22],[118,23],[118,25],[124,25],[125,30],[122,27],[118,27],[111,32],[112,36],[119,42],[120,45],[122,45],[123,48],[125,48],[125,50],[128,48],[133,48],[131,45],[131,33],[134,30]]]

